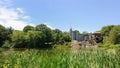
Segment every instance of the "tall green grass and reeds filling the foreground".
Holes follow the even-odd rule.
[[[13,49],[0,52],[0,68],[119,68],[120,50]]]

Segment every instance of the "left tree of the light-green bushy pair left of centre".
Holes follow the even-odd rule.
[[[28,46],[29,36],[22,31],[12,33],[12,43],[15,48],[25,48]]]

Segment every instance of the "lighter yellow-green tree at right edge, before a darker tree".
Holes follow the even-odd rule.
[[[111,26],[111,30],[107,33],[109,34],[105,35],[103,39],[104,44],[120,44],[120,25]]]

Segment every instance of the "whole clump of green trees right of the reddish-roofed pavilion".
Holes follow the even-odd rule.
[[[120,44],[120,25],[104,26],[101,33],[104,44]]]

